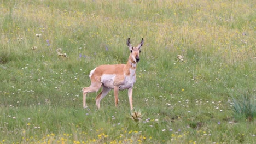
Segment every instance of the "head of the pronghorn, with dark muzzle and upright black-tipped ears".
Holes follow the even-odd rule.
[[[129,56],[130,61],[131,61],[132,63],[137,63],[137,62],[139,62],[139,53],[141,52],[141,47],[142,47],[142,45],[144,44],[143,38],[142,38],[142,40],[141,40],[141,43],[140,43],[137,47],[133,47],[133,46],[131,45],[131,43],[130,43],[130,38],[127,39],[126,44],[127,44],[127,46],[129,47],[130,52],[131,52],[131,54],[130,54],[130,56]]]

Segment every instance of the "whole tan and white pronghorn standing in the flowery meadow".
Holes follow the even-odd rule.
[[[86,94],[97,92],[102,87],[102,92],[96,97],[96,105],[100,109],[100,102],[111,89],[114,89],[115,106],[118,104],[118,91],[128,89],[130,108],[132,110],[132,87],[136,81],[136,65],[139,62],[139,53],[144,44],[143,38],[137,47],[133,47],[130,38],[127,39],[130,56],[126,64],[100,65],[91,70],[91,85],[83,88],[83,107],[86,108]]]

